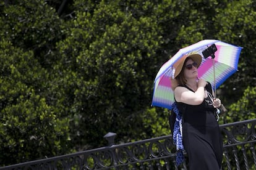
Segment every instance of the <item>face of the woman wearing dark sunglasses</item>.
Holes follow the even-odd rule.
[[[192,59],[188,59],[185,63],[184,77],[186,79],[197,78],[197,75],[197,63],[195,63]]]

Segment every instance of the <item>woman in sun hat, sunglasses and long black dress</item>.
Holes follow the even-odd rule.
[[[182,57],[174,65],[177,86],[174,99],[182,113],[182,140],[189,157],[190,170],[220,169],[223,142],[216,121],[216,108],[220,99],[214,99],[211,84],[197,78],[197,68],[202,62],[199,54]]]

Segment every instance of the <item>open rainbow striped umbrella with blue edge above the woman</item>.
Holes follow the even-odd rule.
[[[203,51],[214,44],[216,47],[214,59],[212,57],[203,57]],[[182,56],[200,54],[202,56],[202,63],[198,68],[198,78],[209,81],[214,86],[213,88],[216,89],[216,87],[219,87],[229,76],[237,71],[241,50],[242,47],[215,39],[205,39],[180,49],[171,59],[163,64],[156,75],[152,106],[171,109],[171,105],[174,102],[174,92],[171,88],[171,78],[175,71],[173,65]]]

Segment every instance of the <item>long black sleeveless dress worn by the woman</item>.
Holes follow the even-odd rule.
[[[189,87],[187,89],[193,91]],[[207,84],[206,89],[207,94],[212,96],[210,83]],[[210,97],[207,96],[200,105],[177,102],[180,111],[184,106],[186,106],[186,111],[182,113],[182,140],[189,157],[189,169],[220,169],[223,141]]]

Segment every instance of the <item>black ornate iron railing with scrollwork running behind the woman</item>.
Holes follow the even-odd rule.
[[[256,119],[222,124],[222,169],[256,169]],[[19,163],[0,169],[187,169],[176,166],[172,136],[114,145],[116,134],[108,133],[108,147]],[[186,153],[185,153],[186,154]]]

